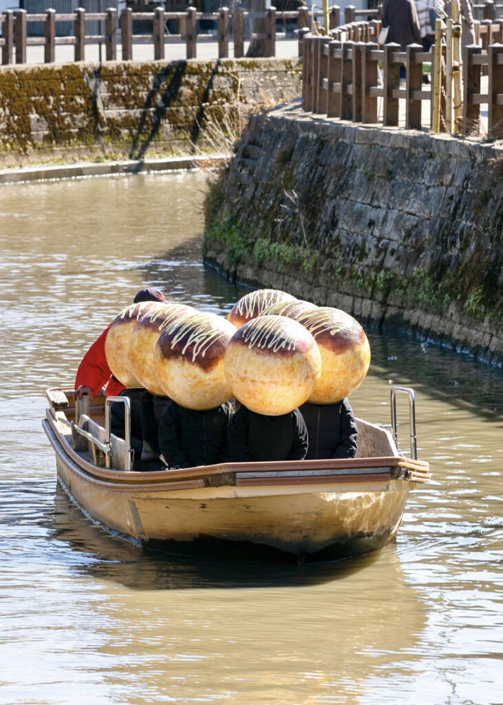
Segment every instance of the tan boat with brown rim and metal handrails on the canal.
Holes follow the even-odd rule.
[[[190,553],[222,542],[242,550],[246,542],[314,560],[365,553],[395,540],[409,491],[430,478],[427,462],[398,453],[394,397],[395,438],[357,419],[356,458],[132,472],[128,438],[109,431],[111,398],[82,409],[73,389],[46,396],[42,424],[59,482],[93,520],[139,544],[168,542]],[[411,422],[412,436],[415,455]]]

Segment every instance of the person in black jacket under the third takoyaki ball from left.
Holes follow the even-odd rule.
[[[195,411],[171,401],[159,422],[161,460],[170,468],[213,465],[228,460],[230,402]]]

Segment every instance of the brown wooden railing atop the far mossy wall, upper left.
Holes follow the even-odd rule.
[[[353,6],[330,8],[330,28],[344,23],[352,22],[358,17],[378,16],[377,10],[356,10]],[[263,33],[246,33],[246,20],[263,20]],[[153,44],[154,59],[164,59],[165,45],[171,42],[185,42],[187,59],[197,56],[199,42],[218,42],[218,58],[229,56],[229,42],[232,37],[235,58],[244,56],[244,42],[254,39],[263,39],[266,56],[275,56],[275,42],[279,37],[298,39],[299,56],[302,56],[302,32],[311,26],[313,20],[321,20],[322,12],[308,12],[306,8],[294,11],[277,12],[269,8],[263,13],[249,13],[240,8],[230,12],[228,8],[221,8],[214,13],[200,13],[195,8],[189,7],[183,12],[166,12],[159,7],[154,12],[135,12],[131,8],[124,9],[117,16],[115,8],[108,8],[105,12],[89,13],[82,8],[77,8],[73,13],[56,13],[48,9],[45,13],[27,14],[25,10],[5,11],[1,16],[1,63],[25,63],[27,47],[44,47],[44,61],[54,62],[55,48],[60,45],[73,45],[75,47],[74,60],[85,61],[85,45],[104,45],[105,61],[114,61],[117,57],[118,42],[122,49],[122,59],[133,58],[133,44]],[[148,34],[133,34],[133,23],[136,20],[147,20],[151,23],[152,30]],[[178,25],[176,34],[166,32],[166,23],[175,20]],[[200,20],[210,20],[216,25],[216,33],[204,34],[197,31]],[[294,31],[278,32],[278,24],[297,25]],[[73,23],[73,35],[60,37],[56,32],[58,23]],[[99,22],[103,28],[100,34],[86,33],[86,23]],[[31,23],[43,23],[44,35],[31,36],[28,31]],[[216,58],[216,57],[215,57]]]

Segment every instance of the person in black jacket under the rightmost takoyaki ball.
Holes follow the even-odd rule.
[[[358,429],[347,398],[335,404],[306,402],[300,411],[309,434],[306,460],[354,457]]]

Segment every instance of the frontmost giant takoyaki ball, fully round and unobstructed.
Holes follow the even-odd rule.
[[[313,336],[282,316],[259,316],[244,324],[225,351],[225,376],[232,393],[258,414],[279,416],[303,404],[320,373]]]

